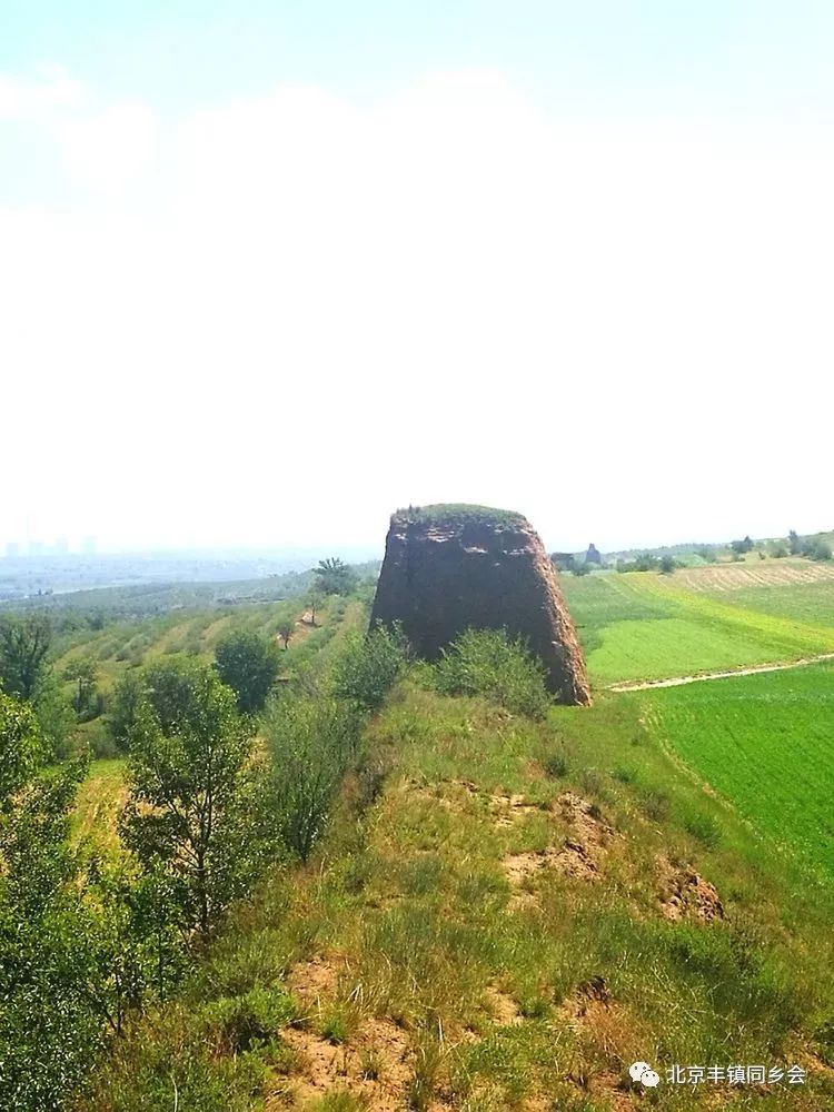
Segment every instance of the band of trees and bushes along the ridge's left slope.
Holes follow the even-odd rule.
[[[128,800],[109,856],[70,837],[86,759],[50,765],[37,683],[13,676],[0,696],[2,1108],[61,1108],[107,1033],[170,993],[228,904],[312,852],[405,655],[378,631],[280,684],[275,655],[237,634],[214,665],[128,674],[113,708]]]

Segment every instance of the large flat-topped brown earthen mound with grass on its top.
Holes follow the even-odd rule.
[[[542,659],[559,702],[590,702],[556,572],[520,514],[466,505],[397,510],[374,600],[376,622],[400,623],[415,652],[429,661],[467,628],[506,629]]]

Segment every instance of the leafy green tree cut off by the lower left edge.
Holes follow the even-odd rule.
[[[38,771],[31,707],[0,695],[0,1108],[59,1109],[101,1043],[69,845],[82,764]]]

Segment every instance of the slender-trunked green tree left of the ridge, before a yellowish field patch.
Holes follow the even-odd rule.
[[[171,877],[186,922],[205,935],[260,863],[258,770],[235,693],[210,667],[172,672],[132,729],[120,826],[145,870]]]

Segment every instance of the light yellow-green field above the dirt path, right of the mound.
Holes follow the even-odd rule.
[[[596,686],[834,652],[824,623],[741,607],[651,572],[566,576],[563,587]]]

